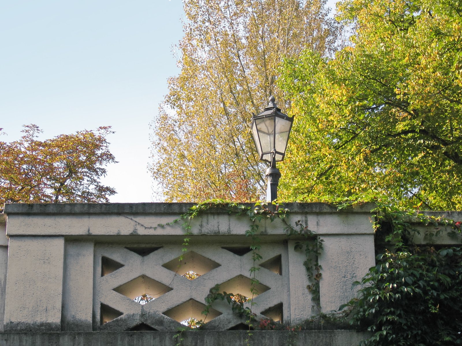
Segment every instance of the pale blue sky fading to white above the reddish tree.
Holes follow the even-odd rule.
[[[334,1],[332,1],[334,2]],[[181,0],[0,3],[1,140],[36,124],[40,139],[112,126],[111,202],[158,202],[147,173],[149,124],[177,75]]]

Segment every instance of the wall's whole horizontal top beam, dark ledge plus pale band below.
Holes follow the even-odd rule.
[[[6,204],[5,213],[8,215],[6,234],[8,236],[88,237],[182,236],[184,233],[181,221],[163,227],[158,225],[165,225],[177,219],[182,212],[188,210],[186,207],[189,203],[114,204],[116,204],[114,207],[111,204],[96,203],[62,203],[56,206],[40,203]],[[171,210],[165,211],[169,206]],[[149,207],[152,209],[151,212],[147,212]],[[304,226],[318,234],[371,233],[371,205],[369,204],[348,209],[347,212],[337,211],[333,206],[324,203],[289,203],[285,207],[291,210],[288,222],[293,225],[300,220]],[[135,212],[123,212],[131,209]],[[249,229],[249,218],[245,215],[229,215],[222,209],[213,208],[200,218],[191,221],[191,227],[191,232],[196,235],[242,235]],[[265,235],[285,234],[285,228],[286,224],[279,219],[274,222],[265,219],[260,225],[260,230]]]

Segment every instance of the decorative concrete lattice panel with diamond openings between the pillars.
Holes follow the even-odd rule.
[[[290,295],[287,245],[262,244],[260,253],[252,311],[257,319],[283,320]],[[96,244],[94,254],[93,330],[168,331],[190,318],[204,320],[209,330],[243,327],[246,317],[226,301],[216,301],[208,316],[201,312],[216,284],[220,292],[252,298],[248,244],[190,245],[180,267],[178,244]],[[188,272],[200,276],[188,280],[182,276]]]

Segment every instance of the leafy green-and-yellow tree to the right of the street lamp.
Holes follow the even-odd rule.
[[[352,45],[286,60],[295,115],[281,196],[462,207],[462,3],[348,0]]]

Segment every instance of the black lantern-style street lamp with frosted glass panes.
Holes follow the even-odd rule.
[[[260,160],[270,164],[265,173],[268,179],[267,202],[273,202],[278,195],[281,173],[276,168],[276,162],[284,160],[286,155],[292,121],[293,118],[288,117],[276,107],[274,96],[269,98],[268,106],[262,113],[252,117],[252,134],[258,155],[260,155]]]

